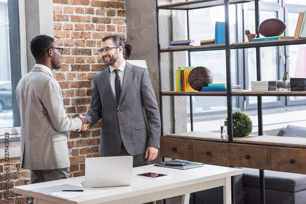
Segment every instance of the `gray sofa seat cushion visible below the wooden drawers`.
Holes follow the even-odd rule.
[[[243,185],[259,187],[259,169],[242,168]],[[301,191],[306,189],[306,175],[287,172],[264,171],[265,188],[281,191]]]

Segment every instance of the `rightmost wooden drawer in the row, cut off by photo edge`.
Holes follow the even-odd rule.
[[[271,170],[306,174],[306,149],[271,147]]]

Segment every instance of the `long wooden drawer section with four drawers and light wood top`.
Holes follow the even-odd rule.
[[[233,143],[216,132],[184,132],[160,138],[161,157],[306,174],[306,138],[247,136]]]

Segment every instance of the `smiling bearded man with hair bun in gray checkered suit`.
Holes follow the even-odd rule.
[[[133,167],[149,165],[158,154],[161,132],[149,72],[125,61],[132,45],[119,35],[104,37],[99,53],[108,68],[93,76],[90,110],[84,117],[88,126],[102,118],[100,156],[132,155]]]

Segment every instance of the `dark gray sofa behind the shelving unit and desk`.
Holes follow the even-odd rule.
[[[253,132],[252,135],[257,135]],[[264,131],[263,135],[306,137],[306,128],[288,125],[287,128]],[[259,170],[242,168],[243,174],[235,176],[235,204],[259,204]],[[264,171],[266,204],[305,204],[306,175]],[[222,204],[223,188],[217,187],[195,193],[196,203]],[[190,195],[193,204],[193,194]]]

